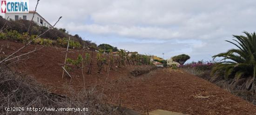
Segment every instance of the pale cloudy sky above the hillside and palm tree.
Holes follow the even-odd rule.
[[[30,10],[36,0],[30,0]],[[256,28],[256,0],[40,0],[38,13],[96,44],[190,61],[233,48],[224,40]]]

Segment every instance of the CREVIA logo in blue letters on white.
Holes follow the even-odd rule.
[[[28,13],[29,0],[1,0],[1,13]]]

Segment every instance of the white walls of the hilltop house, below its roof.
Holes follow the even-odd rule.
[[[23,19],[23,16],[26,15],[27,16],[27,20],[31,20],[32,17],[33,17],[33,13],[6,13],[5,14],[5,19],[7,19],[7,17],[9,17],[9,20],[10,19],[15,20],[15,15],[18,15],[19,19],[20,18]],[[39,18],[39,20],[37,20],[38,18]],[[40,24],[40,19],[43,20],[43,24]],[[38,15],[37,13],[35,13],[33,21],[37,25],[39,25],[39,26],[46,26],[46,27],[50,27],[51,26],[45,19],[40,17],[40,15]]]

